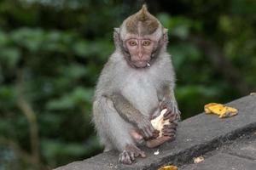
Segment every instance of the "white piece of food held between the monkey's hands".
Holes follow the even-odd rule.
[[[166,109],[162,110],[160,112],[160,116],[157,116],[157,117],[155,117],[154,119],[151,120],[151,124],[154,127],[154,129],[160,131],[160,134],[159,134],[158,138],[163,136],[162,128],[164,127],[164,125],[170,124],[169,120],[164,121],[164,115],[165,115],[166,111],[167,111]]]

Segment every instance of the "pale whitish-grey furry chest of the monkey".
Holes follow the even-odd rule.
[[[131,78],[121,89],[122,94],[144,115],[149,115],[159,104],[157,89],[146,78]]]

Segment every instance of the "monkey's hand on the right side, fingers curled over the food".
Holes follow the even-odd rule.
[[[160,111],[166,109],[166,113],[164,115],[164,120],[168,120],[169,122],[175,122],[175,121],[180,121],[180,111],[177,108],[177,103],[174,101],[168,102],[163,102],[160,105]]]

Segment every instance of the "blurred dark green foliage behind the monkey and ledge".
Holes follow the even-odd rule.
[[[102,151],[90,122],[113,27],[143,1],[0,1],[0,170]],[[183,119],[256,89],[256,1],[146,1],[169,29]]]

